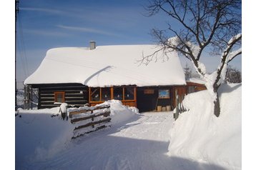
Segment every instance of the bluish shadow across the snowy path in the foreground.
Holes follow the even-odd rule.
[[[41,161],[30,161],[17,169],[224,169],[215,164],[203,164],[180,157],[167,156],[169,142],[132,139],[116,136],[122,129],[139,124],[129,124],[143,115],[134,116],[127,122],[97,131],[72,141],[72,144]]]

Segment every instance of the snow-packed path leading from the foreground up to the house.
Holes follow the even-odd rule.
[[[144,113],[109,129],[74,139],[54,157],[29,169],[221,169],[167,156],[172,112]]]

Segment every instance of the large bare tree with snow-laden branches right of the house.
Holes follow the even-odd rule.
[[[242,54],[241,0],[149,0],[148,16],[164,12],[178,23],[167,23],[167,29],[152,29],[165,53],[178,51],[195,66],[195,70],[207,83],[212,95],[214,114],[220,116],[220,101],[217,90],[225,79],[227,65]],[[169,38],[170,36],[173,38]],[[207,74],[205,64],[200,62],[205,49],[220,54],[220,64],[212,74]],[[157,51],[156,51],[157,53]],[[143,56],[142,63],[148,64],[155,54]]]

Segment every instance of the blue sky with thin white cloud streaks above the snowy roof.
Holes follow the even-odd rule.
[[[168,17],[147,17],[147,0],[20,0],[17,24],[17,81],[32,74],[46,51],[61,46],[154,44],[149,34],[154,27],[167,28]],[[172,21],[172,23],[174,23]],[[173,36],[173,35],[170,35]],[[241,69],[241,56],[232,65]],[[182,64],[189,64],[184,59]],[[220,59],[207,57],[212,71]]]

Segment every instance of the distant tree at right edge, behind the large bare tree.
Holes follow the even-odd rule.
[[[229,83],[233,83],[233,84],[241,83],[242,82],[242,74],[235,67],[228,66],[226,76],[225,76],[225,81],[229,82]]]

